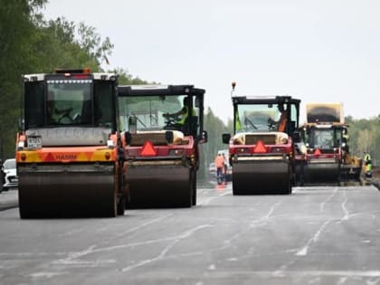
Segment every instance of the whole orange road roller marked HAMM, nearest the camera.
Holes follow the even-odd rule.
[[[23,85],[15,154],[20,217],[123,214],[117,76],[57,70],[24,75]]]

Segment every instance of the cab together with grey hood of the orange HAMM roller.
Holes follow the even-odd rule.
[[[117,76],[83,70],[27,74],[18,149],[104,146],[118,130]]]

